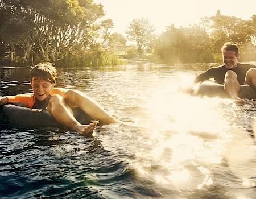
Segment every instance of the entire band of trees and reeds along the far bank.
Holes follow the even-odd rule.
[[[134,19],[125,36],[110,34],[111,19],[93,0],[0,0],[0,64],[60,66],[118,65],[120,59],[146,59],[165,64],[221,61],[220,48],[235,42],[243,61],[256,58],[256,15],[203,18],[189,28],[171,25],[154,34],[147,19]]]

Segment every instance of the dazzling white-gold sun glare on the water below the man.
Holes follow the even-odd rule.
[[[236,106],[229,99],[181,93],[177,85],[174,80],[164,81],[147,96],[141,135],[148,145],[136,152],[137,159],[131,163],[138,175],[166,189],[200,190],[214,184],[212,170],[228,159],[230,171],[245,179],[241,184],[247,186],[253,168],[248,171],[246,164],[255,166],[253,139],[247,139],[245,131],[235,136],[220,109],[223,104]],[[238,152],[242,155],[237,156]]]

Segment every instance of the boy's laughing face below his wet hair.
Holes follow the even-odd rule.
[[[50,81],[46,81],[40,77],[32,77],[31,79],[31,87],[35,94],[36,99],[43,101],[49,96],[50,90],[54,87]]]

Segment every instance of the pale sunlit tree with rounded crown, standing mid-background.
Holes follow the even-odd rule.
[[[148,22],[148,19],[133,19],[126,31],[128,39],[137,43],[138,53],[145,49],[150,51],[155,39],[155,28]]]

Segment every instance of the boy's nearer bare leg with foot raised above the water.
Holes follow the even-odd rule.
[[[96,121],[89,125],[81,125],[73,116],[71,108],[66,105],[60,95],[53,95],[51,97],[47,111],[51,113],[52,117],[55,118],[57,122],[82,134],[90,134],[97,125]]]

